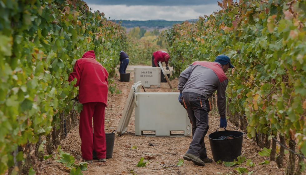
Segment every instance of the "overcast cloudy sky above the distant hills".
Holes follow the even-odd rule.
[[[93,10],[116,20],[185,21],[219,11],[218,0],[85,0]],[[221,2],[221,0],[219,0]]]

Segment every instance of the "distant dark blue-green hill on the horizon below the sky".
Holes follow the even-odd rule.
[[[115,22],[122,22],[121,26],[126,28],[131,27],[171,27],[173,24],[182,23],[184,21],[166,21],[166,20],[148,20],[148,21],[130,21],[130,20],[114,20]],[[194,20],[195,21],[195,20]]]

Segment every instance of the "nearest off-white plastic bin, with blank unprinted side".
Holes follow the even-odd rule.
[[[135,93],[135,135],[189,136],[192,126],[180,93]]]

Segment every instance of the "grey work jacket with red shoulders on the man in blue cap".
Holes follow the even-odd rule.
[[[179,77],[177,89],[181,93],[193,92],[211,97],[217,90],[217,105],[220,117],[225,117],[225,90],[228,79],[218,62],[196,61],[189,65]]]

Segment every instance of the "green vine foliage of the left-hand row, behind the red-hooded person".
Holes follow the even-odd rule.
[[[77,59],[94,50],[115,73],[127,35],[83,1],[1,1],[0,174],[18,145],[36,143],[72,109],[77,88],[67,82]],[[79,109],[79,107],[78,107]]]

